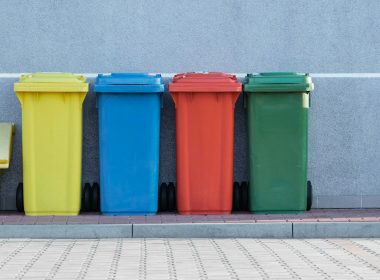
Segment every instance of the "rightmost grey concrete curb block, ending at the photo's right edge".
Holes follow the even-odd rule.
[[[380,222],[293,223],[293,238],[371,237],[380,237]]]

